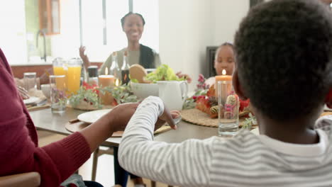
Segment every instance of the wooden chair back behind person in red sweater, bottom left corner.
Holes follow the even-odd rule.
[[[40,175],[37,172],[0,176],[0,187],[38,187]]]

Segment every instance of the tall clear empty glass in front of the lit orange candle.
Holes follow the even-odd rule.
[[[233,136],[238,131],[239,100],[232,81],[217,82],[218,135]]]

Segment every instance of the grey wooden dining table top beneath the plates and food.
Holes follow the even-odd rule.
[[[73,108],[66,108],[65,113],[52,113],[50,108],[45,108],[37,111],[30,111],[31,118],[37,130],[46,130],[60,135],[70,135],[72,132],[65,128],[65,125],[81,113],[87,111],[80,111]],[[218,128],[210,128],[201,125],[194,125],[185,121],[180,121],[177,124],[177,130],[167,130],[155,135],[154,140],[159,142],[177,143],[188,139],[203,140],[212,136],[218,135]],[[121,142],[121,137],[110,137],[103,145],[118,146]]]

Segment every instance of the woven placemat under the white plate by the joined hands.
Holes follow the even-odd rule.
[[[69,132],[77,132],[79,130],[82,130],[82,129],[86,128],[89,125],[90,125],[90,123],[84,123],[82,121],[79,121],[77,123],[66,123],[65,128]],[[165,132],[165,131],[170,130],[170,129],[171,129],[170,126],[163,125],[161,128],[156,130],[154,134],[157,134],[157,133],[160,133],[160,132]],[[113,133],[112,137],[122,137],[122,135],[123,135],[123,131],[117,131],[117,132]]]

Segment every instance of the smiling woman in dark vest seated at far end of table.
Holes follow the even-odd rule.
[[[126,34],[127,47],[114,53],[116,55],[110,55],[106,62],[102,64],[99,69],[99,74],[104,74],[105,69],[109,69],[111,64],[115,62],[114,58],[117,58],[119,67],[123,64],[123,55],[125,52],[128,53],[128,64],[141,64],[145,68],[156,68],[160,65],[160,57],[153,49],[145,45],[140,44],[140,38],[142,37],[145,26],[145,19],[140,13],[129,12],[121,18],[121,27],[123,33]],[[90,62],[89,58],[85,54],[85,47],[79,48],[79,55],[81,56],[84,66],[88,67]],[[128,172],[121,168],[118,164],[118,149],[114,147],[114,174],[116,184],[126,186],[128,180]],[[143,180],[131,174],[131,179],[134,179],[135,184],[143,183]]]

